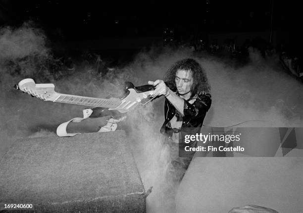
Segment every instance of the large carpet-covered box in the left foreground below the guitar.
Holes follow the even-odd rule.
[[[145,198],[122,130],[20,139],[0,160],[2,210],[13,203],[37,213],[145,213]]]

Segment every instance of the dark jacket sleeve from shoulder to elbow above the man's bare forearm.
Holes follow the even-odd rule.
[[[208,93],[203,93],[199,95],[196,99],[184,100],[184,116],[191,118],[198,118],[203,116],[211,105],[211,95]]]

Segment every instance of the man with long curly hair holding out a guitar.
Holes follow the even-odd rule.
[[[195,154],[184,152],[184,148],[197,146],[196,141],[185,144],[182,139],[185,133],[200,133],[211,105],[210,86],[204,69],[192,58],[174,63],[167,70],[165,82],[156,80],[149,81],[149,84],[155,86],[152,97],[165,97],[165,120],[160,132],[167,136],[166,143],[169,145],[171,161],[168,178],[180,183]]]

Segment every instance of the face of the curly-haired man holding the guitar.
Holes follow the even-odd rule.
[[[180,95],[187,94],[191,91],[193,85],[192,71],[178,69],[176,72],[176,87]]]

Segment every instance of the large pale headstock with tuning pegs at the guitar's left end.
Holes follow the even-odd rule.
[[[53,84],[36,84],[31,78],[20,81],[18,89],[44,101],[54,101],[58,97]]]

